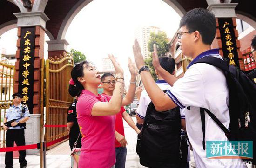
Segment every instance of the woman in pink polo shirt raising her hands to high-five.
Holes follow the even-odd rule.
[[[71,71],[72,89],[77,93],[77,120],[82,133],[79,168],[111,168],[115,165],[115,114],[120,111],[123,93],[123,70],[113,55],[117,74],[113,96],[97,92],[101,77],[93,64],[83,61]],[[109,101],[108,101],[109,100]]]

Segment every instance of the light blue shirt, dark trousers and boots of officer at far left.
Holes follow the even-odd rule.
[[[25,109],[25,112],[22,112],[22,109]],[[16,119],[16,122],[20,121],[20,119],[30,116],[29,110],[27,106],[22,104],[18,106],[11,106],[5,115],[7,118],[7,122],[13,119]],[[17,146],[25,145],[25,136],[24,136],[24,127],[16,126],[16,127],[9,127],[6,131],[6,147],[13,147],[14,142]],[[26,150],[19,151],[19,162],[20,167],[26,167],[27,161],[26,157]],[[5,165],[6,168],[13,168],[13,152],[6,152],[5,154]]]

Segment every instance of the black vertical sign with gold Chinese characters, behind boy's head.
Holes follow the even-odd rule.
[[[218,23],[223,56],[229,59],[229,65],[235,65],[240,68],[232,18],[218,18]]]

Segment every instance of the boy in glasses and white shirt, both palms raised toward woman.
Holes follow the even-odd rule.
[[[210,48],[215,34],[216,19],[212,13],[202,8],[189,11],[182,17],[178,32],[182,53],[194,60],[202,57],[222,59],[218,49],[211,50]],[[203,150],[202,146],[200,107],[210,110],[226,128],[229,128],[229,94],[223,72],[212,65],[193,64],[195,61],[192,61],[184,77],[177,79],[160,66],[154,45],[153,65],[165,81],[173,86],[164,94],[155,84],[148,68],[145,67],[137,40],[135,40],[133,51],[144,87],[157,111],[169,110],[176,106],[182,109],[190,107],[190,110],[186,109],[186,129],[193,147],[196,167],[245,168],[241,159],[206,158],[206,150]],[[209,140],[226,141],[227,137],[211,117],[205,114],[205,141]]]

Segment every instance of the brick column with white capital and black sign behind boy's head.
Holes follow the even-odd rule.
[[[215,14],[217,22],[216,37],[212,43],[212,48],[219,48],[222,57],[229,58],[230,64],[236,64],[241,70],[244,70],[243,56],[240,52],[240,42],[237,39],[238,32],[236,30],[235,7],[237,4],[210,3],[207,9]]]

